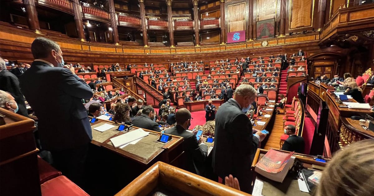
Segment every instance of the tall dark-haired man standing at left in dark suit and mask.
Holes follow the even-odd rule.
[[[21,91],[38,116],[40,143],[51,152],[52,165],[79,184],[92,139],[82,99],[90,99],[92,90],[72,73],[74,69],[62,68],[62,51],[56,42],[38,37],[31,52],[35,60],[21,77]]]

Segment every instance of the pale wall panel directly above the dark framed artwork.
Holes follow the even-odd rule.
[[[277,0],[257,0],[257,21],[277,18],[277,3]]]

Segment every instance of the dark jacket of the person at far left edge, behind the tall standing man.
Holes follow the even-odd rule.
[[[10,93],[18,105],[18,114],[28,116],[25,99],[19,88],[18,78],[7,70],[0,72],[0,90]]]

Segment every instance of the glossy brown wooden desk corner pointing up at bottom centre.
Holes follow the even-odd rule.
[[[249,195],[183,169],[157,162],[116,196],[138,195]]]

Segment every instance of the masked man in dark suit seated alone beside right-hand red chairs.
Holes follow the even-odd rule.
[[[295,151],[297,153],[304,153],[304,138],[295,135],[296,128],[294,125],[287,125],[284,128],[284,133],[289,135],[288,139],[284,141],[282,150]]]

